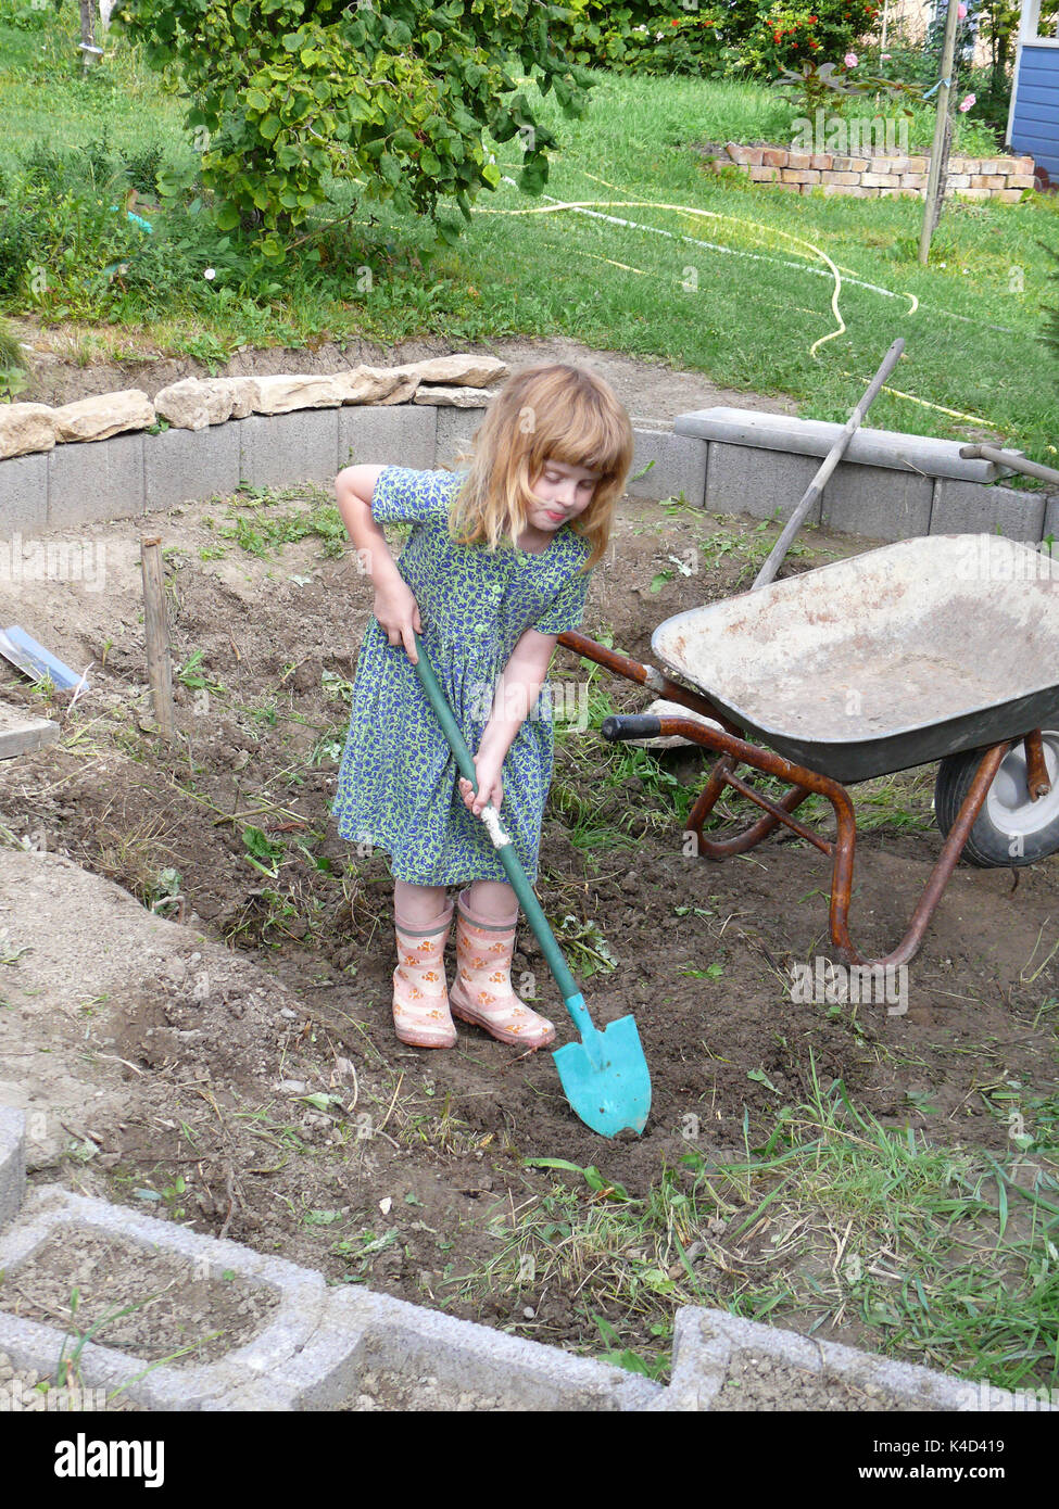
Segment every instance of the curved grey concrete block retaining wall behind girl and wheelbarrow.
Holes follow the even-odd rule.
[[[134,518],[228,495],[240,480],[329,487],[350,462],[452,466],[470,450],[483,407],[357,404],[230,420],[205,430],[116,435],[0,460],[0,537]],[[636,429],[633,498],[684,496],[712,513],[787,518],[840,426],[743,409],[678,415],[672,430]],[[876,540],[994,533],[1041,540],[1059,533],[1059,493],[997,484],[959,442],[861,429],[810,518]]]

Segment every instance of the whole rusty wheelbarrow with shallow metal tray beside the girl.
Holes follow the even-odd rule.
[[[906,964],[961,854],[1021,866],[1059,850],[1059,560],[1032,546],[993,534],[900,540],[678,613],[651,649],[681,681],[582,634],[559,643],[712,720],[628,714],[601,732],[678,735],[719,754],[687,818],[698,856],[745,854],[780,824],[826,854],[831,942],[849,964]],[[941,853],[900,943],[867,960],[849,934],[846,786],[935,761]],[[740,765],[787,792],[773,800]],[[763,815],[707,836],[727,788]],[[834,839],[795,816],[811,794],[831,803]]]

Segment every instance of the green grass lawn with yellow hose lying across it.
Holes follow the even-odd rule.
[[[106,125],[118,148],[157,140],[168,160],[190,152],[178,100],[127,50],[82,81],[53,41],[0,26],[0,57],[9,174],[44,131],[74,145]],[[532,199],[505,180],[479,198],[458,247],[438,249],[428,220],[379,207],[363,184],[338,184],[335,219],[349,219],[322,238],[323,273],[292,255],[261,291],[221,269],[205,305],[201,285],[187,308],[177,288],[165,312],[145,318],[130,303],[110,321],[218,359],[246,341],[560,333],[789,394],[825,420],[846,416],[902,335],[905,359],[872,426],[990,432],[1054,465],[1059,364],[1039,343],[1042,306],[1059,302],[1041,244],[1059,247],[1054,196],[949,205],[923,269],[919,201],[798,196],[704,171],[696,143],[754,139],[776,119],[767,91],[600,72],[582,121],[530,91],[560,142],[545,193]],[[514,177],[517,143],[491,145]],[[449,217],[459,222],[455,207]],[[360,267],[372,269],[370,288],[358,287]],[[36,312],[47,320],[47,302]]]

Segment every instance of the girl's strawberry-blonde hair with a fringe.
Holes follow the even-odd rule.
[[[465,460],[467,453],[456,457]],[[452,501],[458,545],[517,540],[547,462],[598,471],[592,501],[570,528],[591,545],[583,570],[603,557],[613,507],[633,465],[633,427],[609,383],[567,362],[527,367],[489,404],[474,432],[470,471]]]

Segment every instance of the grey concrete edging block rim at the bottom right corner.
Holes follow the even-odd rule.
[[[837,1342],[817,1342],[758,1320],[740,1320],[727,1310],[692,1305],[677,1311],[671,1384],[653,1408],[716,1409],[728,1372],[748,1358],[761,1360],[766,1375],[772,1372],[773,1379],[776,1375],[787,1376],[793,1388],[778,1405],[786,1409],[799,1408],[799,1378],[805,1379],[807,1393],[811,1390],[816,1394],[832,1382],[843,1393],[861,1394],[869,1406],[878,1405],[884,1414],[1020,1408],[1021,1396],[988,1384],[970,1384]],[[819,1405],[807,1402],[805,1408]]]

